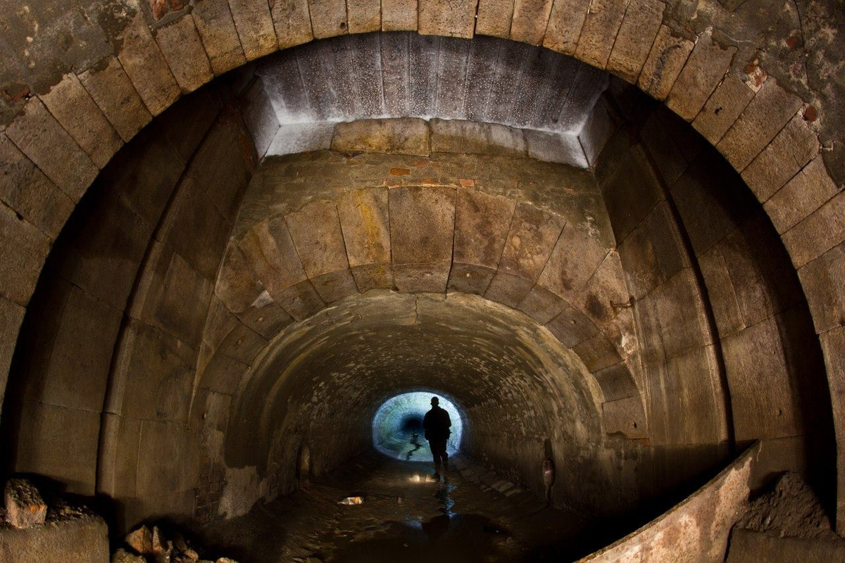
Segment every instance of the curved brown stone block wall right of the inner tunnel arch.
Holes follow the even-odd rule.
[[[627,95],[613,84],[609,104],[622,108]],[[754,193],[665,108],[642,111],[599,162],[635,298],[651,445],[763,439],[766,452],[803,451],[773,453],[779,461],[765,472],[803,471],[830,495],[820,347],[788,252]],[[632,181],[630,166],[649,180]],[[711,418],[691,418],[703,404]]]

